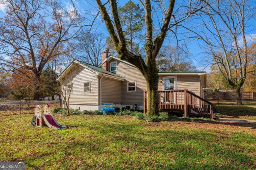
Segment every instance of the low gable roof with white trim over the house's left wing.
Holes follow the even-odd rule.
[[[57,80],[60,80],[60,78],[62,77],[62,75],[72,69],[74,67],[74,63],[77,63],[83,67],[85,67],[86,69],[89,69],[90,71],[96,73],[97,75],[100,73],[100,74],[103,74],[103,75],[110,75],[110,77],[116,77],[117,79],[120,79],[120,80],[124,80],[124,77],[122,77],[121,75],[118,75],[116,73],[112,73],[110,71],[107,71],[105,69],[102,69],[101,67],[98,67],[98,66],[95,66],[95,65],[91,65],[91,64],[88,64],[86,62],[83,62],[83,61],[79,61],[79,60],[73,60],[69,65],[68,67],[66,67],[66,69],[64,69],[64,71],[62,71],[62,73],[60,74],[60,76],[57,78]]]

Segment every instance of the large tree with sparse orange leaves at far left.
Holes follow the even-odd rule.
[[[40,76],[46,63],[69,51],[80,19],[55,0],[4,0],[6,16],[0,18],[0,65],[10,71],[29,70],[39,99]],[[2,57],[1,57],[2,54]],[[24,76],[22,76],[24,77]]]

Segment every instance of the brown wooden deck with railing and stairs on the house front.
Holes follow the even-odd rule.
[[[213,119],[213,105],[202,97],[184,90],[158,91],[159,109],[184,110],[184,116],[199,114],[202,117]],[[144,91],[144,113],[147,108],[147,91]]]

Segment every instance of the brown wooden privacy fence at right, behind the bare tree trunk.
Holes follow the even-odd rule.
[[[242,100],[256,100],[256,91],[242,91],[240,92]],[[236,92],[204,92],[204,99],[206,100],[236,100]]]

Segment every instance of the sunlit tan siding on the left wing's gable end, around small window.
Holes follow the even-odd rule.
[[[79,73],[74,71],[70,104],[98,105],[98,77],[80,65]],[[90,82],[90,92],[84,92],[84,83]]]

